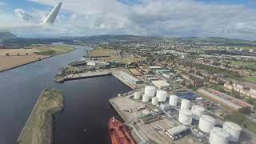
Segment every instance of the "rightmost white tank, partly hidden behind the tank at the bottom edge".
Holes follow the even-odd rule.
[[[230,134],[230,142],[238,142],[242,128],[234,122],[224,122],[223,130]]]

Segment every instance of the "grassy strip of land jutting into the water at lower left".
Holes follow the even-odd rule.
[[[52,114],[57,113],[59,110],[62,110],[62,108],[61,90],[43,90],[18,138],[18,143],[52,143]]]

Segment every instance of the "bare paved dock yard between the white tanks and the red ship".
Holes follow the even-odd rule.
[[[126,122],[126,125],[131,127],[131,134],[135,141],[137,143],[173,143],[174,141],[170,136],[162,130],[157,130],[156,127],[162,126],[164,129],[169,130],[178,126],[177,123],[170,121],[167,117],[160,116],[162,115],[162,110],[154,115],[143,114],[143,110],[138,110],[138,108],[145,107],[144,110],[152,111],[157,109],[157,107],[147,102],[134,100],[133,96],[134,91],[130,91],[126,94],[118,94],[117,97],[111,98],[109,101],[114,110]],[[198,141],[190,136],[186,136],[176,140],[175,143],[198,144]]]

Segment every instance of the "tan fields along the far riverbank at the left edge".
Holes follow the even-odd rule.
[[[64,47],[61,50],[57,50],[58,48],[59,48],[58,46],[56,46],[54,49],[53,48],[51,48],[51,49],[45,48],[48,51],[53,51],[53,50],[56,51],[56,54],[50,54],[50,55],[41,55],[42,53],[47,52],[47,50],[43,50],[42,48],[40,48],[40,49],[38,48],[37,50],[35,50],[35,48],[29,49],[31,51],[31,54],[30,54],[30,52],[28,52],[27,49],[20,49],[20,50],[15,49],[15,54],[17,53],[19,55],[14,55],[14,52],[12,50],[4,50],[4,52],[2,52],[0,54],[0,73],[3,71],[6,71],[6,70],[15,69],[19,66],[25,66],[25,65],[33,63],[33,62],[38,62],[38,61],[41,61],[46,58],[51,58],[51,57],[54,57],[59,54],[66,54],[73,50],[76,50],[76,48],[73,46],[70,47],[70,49],[67,49],[66,47]],[[3,49],[1,49],[1,50],[3,50]],[[22,50],[25,50],[25,52],[28,55],[22,54],[22,53],[24,53]],[[32,52],[33,52],[33,54],[32,54]],[[4,54],[8,53],[8,54],[10,54],[10,56],[3,55],[3,53]],[[38,53],[38,54],[35,54],[35,53]]]

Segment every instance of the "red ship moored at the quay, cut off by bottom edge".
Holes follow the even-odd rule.
[[[114,117],[110,118],[109,130],[112,144],[135,144],[126,127]]]

